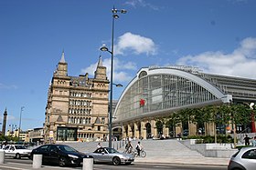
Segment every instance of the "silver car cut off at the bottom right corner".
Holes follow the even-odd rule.
[[[242,147],[229,160],[228,170],[255,170],[256,147]]]

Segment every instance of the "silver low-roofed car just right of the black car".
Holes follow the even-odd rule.
[[[131,154],[119,153],[117,150],[110,147],[101,147],[93,153],[87,153],[93,157],[94,163],[112,163],[113,165],[126,164],[130,165],[134,161],[134,156]]]

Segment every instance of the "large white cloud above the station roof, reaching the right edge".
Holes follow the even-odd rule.
[[[256,38],[246,38],[230,54],[223,52],[205,52],[199,55],[187,55],[180,58],[177,65],[193,65],[204,72],[256,78]]]

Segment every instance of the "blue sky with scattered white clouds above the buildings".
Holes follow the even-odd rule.
[[[256,79],[255,0],[0,0],[0,122],[42,127],[48,85],[64,51],[68,75],[92,78],[101,55],[113,98],[142,67],[190,65]],[[21,112],[21,108],[24,109]],[[2,129],[2,125],[0,126]]]

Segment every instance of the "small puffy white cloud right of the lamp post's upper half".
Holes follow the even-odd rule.
[[[115,55],[124,55],[124,52],[132,52],[135,55],[156,55],[157,48],[152,39],[128,32],[118,38],[114,47]]]

